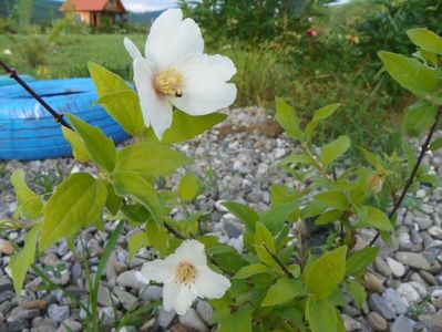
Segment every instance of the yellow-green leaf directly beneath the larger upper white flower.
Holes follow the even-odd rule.
[[[175,111],[172,126],[164,133],[162,143],[173,144],[192,139],[226,118],[227,115],[220,113],[192,116],[182,111]]]

